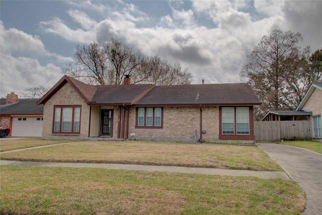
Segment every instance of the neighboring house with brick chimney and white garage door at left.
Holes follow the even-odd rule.
[[[10,128],[11,136],[41,136],[43,105],[36,105],[39,99],[18,99],[11,93],[1,99],[1,126]]]

